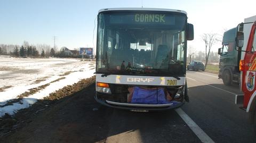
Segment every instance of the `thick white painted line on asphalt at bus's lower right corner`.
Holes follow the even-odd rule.
[[[181,108],[175,111],[202,142],[214,142]]]

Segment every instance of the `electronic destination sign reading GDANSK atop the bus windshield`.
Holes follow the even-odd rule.
[[[108,14],[109,24],[146,24],[150,25],[174,25],[175,15],[169,13],[111,13]],[[184,19],[183,16],[178,16],[179,19]]]

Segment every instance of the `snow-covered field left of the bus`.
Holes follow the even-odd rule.
[[[35,94],[23,98],[19,103],[13,103],[13,105],[0,107],[0,117],[5,113],[13,115],[18,110],[27,108],[36,103],[38,99],[43,99],[44,97],[49,96],[55,90],[59,90],[68,85],[73,85],[79,80],[92,77],[95,72],[95,69],[89,68],[91,66],[95,66],[95,62],[91,61],[62,58],[23,59],[3,56],[0,58],[0,67],[15,67],[21,70],[28,70],[27,73],[19,73],[19,71],[12,70],[0,72],[0,87],[13,86],[0,92],[0,105],[4,105],[9,100],[17,98],[17,96],[23,92],[29,91],[31,88],[46,85],[54,80],[65,77],[65,79],[52,82],[49,86],[36,92]],[[30,72],[29,70],[31,69],[36,69],[38,72]],[[10,74],[9,77],[11,78],[1,79],[6,72]],[[70,72],[70,74],[63,76],[63,73],[65,72]],[[38,79],[45,80],[35,83],[35,81]]]

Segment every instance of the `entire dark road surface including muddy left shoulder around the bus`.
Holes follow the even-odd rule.
[[[187,82],[190,103],[149,113],[101,106],[93,99],[93,84],[0,142],[256,142],[245,111],[234,104],[242,94],[239,86],[224,86],[217,74],[197,71],[187,72]]]

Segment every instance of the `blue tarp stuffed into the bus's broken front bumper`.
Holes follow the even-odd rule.
[[[133,104],[169,104],[166,100],[164,89],[143,89],[134,87],[132,101]]]

